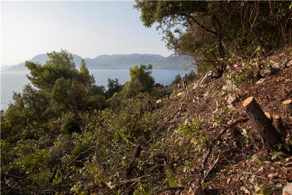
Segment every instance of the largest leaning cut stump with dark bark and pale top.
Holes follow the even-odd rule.
[[[281,134],[276,131],[272,121],[264,114],[259,104],[253,97],[248,97],[243,102],[247,115],[254,129],[258,132],[262,142],[271,149],[275,144],[281,143]]]

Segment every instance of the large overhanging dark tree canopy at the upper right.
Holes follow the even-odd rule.
[[[289,2],[136,1],[146,27],[158,23],[169,49],[194,56],[220,77],[228,59],[287,42]],[[274,40],[277,41],[274,41]]]

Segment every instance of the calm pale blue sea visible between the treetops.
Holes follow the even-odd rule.
[[[191,70],[153,70],[152,76],[156,83],[169,85],[178,74],[181,76]],[[107,86],[107,78],[117,78],[120,84],[130,80],[129,70],[90,70],[97,85]],[[7,109],[12,101],[13,92],[20,93],[23,87],[30,83],[26,78],[29,72],[1,72],[1,109]]]

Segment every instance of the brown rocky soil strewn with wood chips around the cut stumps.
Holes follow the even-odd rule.
[[[209,141],[215,139],[227,125],[247,117],[242,102],[249,96],[255,98],[264,112],[282,117],[287,131],[286,142],[289,142],[292,115],[281,109],[280,105],[282,101],[292,99],[292,57],[278,51],[265,56],[265,60],[270,66],[258,72],[258,77],[232,83],[230,75],[245,73],[242,68],[236,70],[232,67],[220,79],[214,80],[208,73],[192,84],[191,89],[175,91],[162,99],[156,112],[165,118],[164,125],[169,134],[161,143],[168,145],[170,154],[173,149],[181,151],[178,158],[184,165],[177,165],[182,169],[176,169],[176,179],[181,183],[187,180],[188,183],[183,192],[166,190],[161,193],[203,193],[192,189],[201,179],[201,163],[207,147],[199,148],[194,144],[187,152],[180,150],[180,147],[189,146],[192,138],[179,134],[179,125],[192,123],[194,119],[200,121],[200,132],[205,135],[208,146]],[[272,160],[272,155],[250,121],[230,127],[214,144],[206,170],[211,169],[213,164],[204,180],[205,194],[281,194],[282,188],[292,182],[292,157],[287,154],[282,161],[278,158]]]

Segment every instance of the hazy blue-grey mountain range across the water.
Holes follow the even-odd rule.
[[[72,54],[77,69],[80,67],[82,57],[76,54]],[[34,56],[29,61],[39,62],[41,64],[46,63],[48,60],[47,54],[39,54]],[[86,65],[89,70],[99,69],[129,69],[135,65],[140,64],[152,64],[153,69],[185,69],[193,68],[194,59],[189,56],[180,56],[176,53],[171,54],[168,57],[157,54],[114,54],[114,55],[99,55],[95,58],[85,58]],[[25,62],[21,62],[12,66],[5,72],[17,72],[28,71],[25,67]]]

